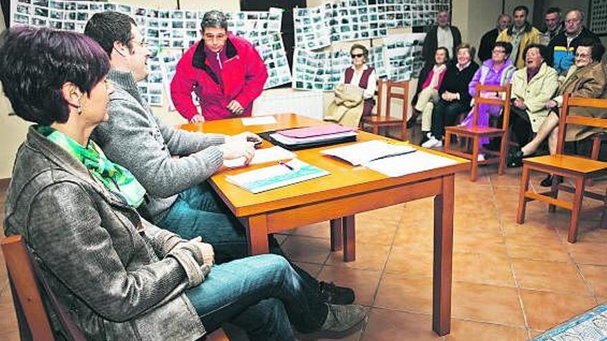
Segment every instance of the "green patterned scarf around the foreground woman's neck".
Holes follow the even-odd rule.
[[[77,158],[95,178],[125,203],[135,208],[143,203],[146,189],[128,169],[108,160],[101,148],[92,140],[89,139],[86,147],[83,147],[52,127],[37,125],[35,129]]]

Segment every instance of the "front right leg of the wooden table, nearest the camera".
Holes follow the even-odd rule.
[[[455,176],[442,177],[441,194],[434,199],[434,261],[432,273],[432,330],[446,335],[451,328],[451,270]]]

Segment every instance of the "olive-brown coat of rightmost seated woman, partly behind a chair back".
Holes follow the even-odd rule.
[[[588,99],[607,99],[607,67],[604,63],[594,62],[584,68],[578,69],[572,65],[567,76],[559,87],[559,95],[570,93],[573,97]],[[555,101],[561,107],[563,97],[558,96]],[[607,118],[607,110],[597,110],[584,107],[573,107],[569,110],[570,115],[587,116],[595,118]],[[595,134],[604,132],[601,128],[584,127],[581,125],[568,125],[565,141],[579,141]]]

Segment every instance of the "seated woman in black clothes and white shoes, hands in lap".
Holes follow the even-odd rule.
[[[472,61],[474,48],[463,43],[457,47],[457,59],[447,65],[447,71],[439,89],[439,101],[432,110],[432,127],[428,141],[422,147],[442,147],[446,125],[455,125],[457,116],[470,111],[472,97],[468,84],[479,65]]]

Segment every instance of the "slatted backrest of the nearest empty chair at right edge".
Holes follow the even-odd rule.
[[[563,105],[559,116],[559,138],[557,140],[557,154],[563,154],[565,146],[566,125],[585,125],[586,127],[599,127],[607,129],[607,118],[596,118],[588,116],[573,116],[569,114],[571,107],[587,107],[607,110],[607,99],[587,99],[572,97],[571,94],[563,94]]]

